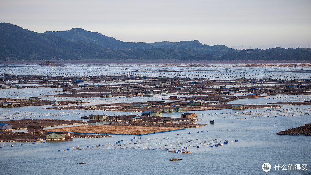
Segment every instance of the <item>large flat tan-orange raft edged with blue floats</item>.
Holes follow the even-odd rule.
[[[160,132],[178,131],[186,128],[174,127],[137,127],[137,126],[109,126],[109,125],[81,125],[47,129],[45,132],[71,131],[74,134],[116,134],[116,135],[148,135]]]

